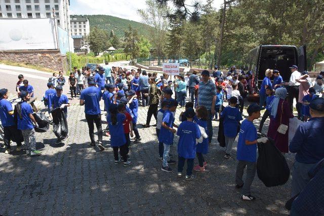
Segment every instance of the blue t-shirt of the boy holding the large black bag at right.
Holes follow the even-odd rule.
[[[250,162],[257,161],[257,144],[245,144],[246,140],[253,142],[257,139],[257,129],[255,128],[253,122],[249,121],[248,119],[242,121],[237,143],[237,160],[244,160]]]

